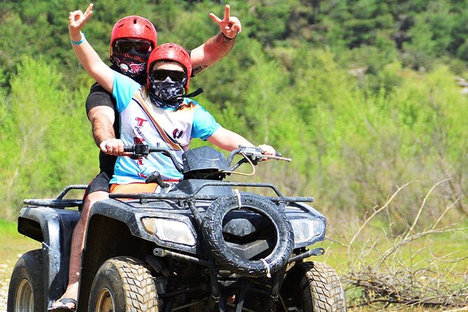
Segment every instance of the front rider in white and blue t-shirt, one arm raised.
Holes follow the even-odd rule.
[[[187,98],[192,62],[180,45],[164,43],[150,53],[148,78],[146,85],[141,85],[106,66],[84,38],[80,30],[91,15],[92,4],[85,13],[80,10],[70,13],[70,39],[85,70],[105,90],[112,92],[116,100],[120,147],[144,141],[149,146],[169,148],[182,163],[181,155],[193,138],[207,140],[225,150],[234,150],[239,145],[254,146],[243,136],[221,127],[196,101]],[[101,149],[105,149],[112,140],[103,141]],[[265,154],[275,153],[271,146],[259,147]],[[159,171],[163,180],[178,181],[182,178],[166,157],[148,156],[145,166],[139,167],[140,162],[141,159],[132,159],[124,153],[118,156],[111,179],[113,190],[118,185],[131,183],[146,187],[145,178],[153,171]]]

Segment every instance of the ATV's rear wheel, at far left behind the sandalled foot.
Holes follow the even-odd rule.
[[[42,250],[30,250],[18,259],[8,288],[8,312],[44,311]]]

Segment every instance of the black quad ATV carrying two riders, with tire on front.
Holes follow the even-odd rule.
[[[241,164],[280,155],[242,147],[228,157],[207,146],[188,150],[179,164],[165,148],[129,146],[133,157],[161,153],[183,173],[154,193],[109,194],[92,206],[83,250],[80,312],[346,311],[332,267],[304,261],[324,253],[326,220],[269,183],[225,180]],[[234,161],[234,159],[238,159]],[[252,174],[253,174],[252,173]],[[25,199],[18,232],[42,243],[17,261],[8,312],[46,311],[66,289],[73,227],[81,199]],[[242,189],[239,190],[239,188]],[[247,190],[249,192],[247,192]]]

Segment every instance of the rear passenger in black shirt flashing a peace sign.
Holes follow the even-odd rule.
[[[192,76],[227,55],[234,45],[235,38],[241,31],[241,24],[237,17],[230,16],[229,10],[229,5],[226,5],[222,20],[213,13],[210,14],[221,31],[190,52],[190,65],[194,67],[191,71]],[[111,69],[131,77],[138,83],[146,83],[148,57],[156,47],[157,31],[149,20],[136,15],[124,17],[115,23],[111,34]],[[116,155],[122,154],[120,141],[116,139],[119,134],[119,118],[112,95],[98,83],[94,84],[86,101],[86,109],[92,123],[94,141],[98,146],[102,146],[99,153],[100,173],[85,192],[80,220],[73,231],[69,283],[62,297],[52,304],[50,311],[76,310],[80,258],[90,207],[94,202],[108,197],[109,180],[113,176]],[[104,141],[106,144],[103,145]]]

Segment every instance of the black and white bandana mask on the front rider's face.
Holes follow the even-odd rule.
[[[153,102],[160,107],[179,108],[183,102],[185,83],[187,77],[182,81],[172,81],[167,77],[165,80],[155,80],[150,73],[149,96]]]

